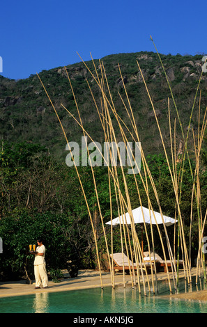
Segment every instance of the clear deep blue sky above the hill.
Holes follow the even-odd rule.
[[[155,51],[207,53],[206,8],[195,1],[1,0],[4,77],[109,54]]]

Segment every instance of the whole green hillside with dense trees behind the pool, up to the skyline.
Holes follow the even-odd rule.
[[[128,141],[132,141],[135,131],[132,130],[132,123],[126,111],[129,110],[125,88],[127,90],[150,174],[146,174],[146,163],[143,161],[141,174],[137,175],[130,175],[126,168],[122,171],[118,166],[117,180],[120,182],[118,188],[113,181],[114,175],[110,175],[111,180],[109,180],[107,167],[95,166],[92,176],[89,165],[80,166],[79,175],[75,167],[69,168],[66,165],[68,154],[66,138],[40,83],[41,79],[59,114],[68,141],[80,143],[83,136],[82,128],[66,111],[68,109],[79,121],[65,67],[44,70],[38,74],[40,79],[37,75],[18,81],[0,77],[0,237],[3,238],[0,280],[17,279],[25,275],[26,278],[29,276],[32,278],[33,261],[28,248],[29,244],[36,242],[36,238],[40,235],[45,238],[47,269],[51,276],[55,277],[59,276],[61,269],[66,268],[68,260],[75,261],[77,266],[82,268],[97,267],[96,238],[102,262],[106,253],[105,237],[109,242],[109,251],[112,251],[113,246],[114,253],[121,252],[120,231],[118,228],[114,229],[112,244],[110,228],[105,225],[111,217],[118,216],[117,189],[123,194],[123,198],[130,198],[132,209],[139,205],[148,207],[150,199],[155,211],[162,207],[163,214],[171,217],[178,215],[178,201],[175,196],[178,192],[185,244],[192,265],[194,264],[199,249],[200,217],[204,218],[207,206],[206,134],[201,149],[199,148],[201,134],[204,131],[203,121],[206,122],[204,114],[207,74],[204,72],[201,75],[202,55],[171,56],[169,54],[161,55],[161,58],[171,90],[158,55],[153,52],[107,56],[101,61],[95,60],[95,67],[92,61],[86,62],[88,69],[82,62],[66,66],[84,129],[93,141],[100,143],[105,141],[105,134],[95,106],[96,103],[101,113],[102,93],[95,81],[96,71],[99,78],[102,74],[106,74],[111,101],[116,107],[119,118],[125,124]],[[155,106],[162,139],[137,61]],[[107,89],[107,84],[105,88]],[[178,122],[171,91],[176,101],[180,122]],[[108,90],[106,93],[109,95]],[[169,129],[169,109],[171,129]],[[116,140],[123,141],[121,129],[110,108],[109,112]],[[184,161],[181,126],[185,138],[189,131],[191,113],[188,152],[187,154],[185,152]],[[171,149],[170,130],[173,149]],[[169,161],[164,155],[162,140],[169,154]],[[173,161],[171,161],[171,150]],[[171,177],[171,171],[174,172],[174,178]],[[175,181],[178,183],[177,189]],[[196,185],[196,199],[193,185]],[[95,193],[97,189],[98,196]],[[199,202],[196,201],[198,199]],[[106,235],[102,229],[102,219]],[[96,238],[91,228],[91,221]],[[137,234],[141,237],[139,227],[136,227]],[[174,237],[178,238],[178,234],[174,234],[174,226],[167,230],[170,241],[174,242]],[[151,233],[150,226],[148,232]],[[204,229],[204,235],[205,232]],[[156,229],[154,239],[155,251],[162,253],[160,236]],[[165,239],[164,234],[162,239]],[[144,250],[148,250],[146,231],[144,231],[144,240]],[[180,255],[181,248],[178,248]],[[104,264],[102,267],[105,267]]]

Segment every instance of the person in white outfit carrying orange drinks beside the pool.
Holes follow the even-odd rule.
[[[45,246],[43,245],[43,239],[39,238],[38,247],[36,248],[34,264],[34,274],[36,278],[36,289],[40,289],[41,282],[43,283],[43,288],[48,287],[48,277],[46,271],[45,262]]]

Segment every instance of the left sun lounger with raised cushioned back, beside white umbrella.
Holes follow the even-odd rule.
[[[112,257],[112,255],[110,255],[110,257]],[[133,268],[135,271],[137,271],[137,266],[139,269],[141,269],[141,266],[142,266],[142,269],[144,269],[145,271],[149,271],[151,270],[151,265],[152,265],[152,268],[154,267],[154,264],[152,262],[152,264],[150,262],[142,262],[141,264],[139,263],[134,263],[132,264],[132,261],[131,260],[128,260],[128,257],[123,253],[114,253],[113,254],[113,261],[114,261],[114,271],[115,270],[118,270],[118,271],[126,271],[126,273],[129,273],[130,269],[131,271],[133,271]],[[124,268],[123,268],[124,266]]]

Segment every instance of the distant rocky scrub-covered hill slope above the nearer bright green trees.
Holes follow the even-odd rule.
[[[79,57],[77,57],[79,58]],[[167,77],[171,83],[172,92],[176,99],[179,115],[183,124],[183,130],[187,131],[190,112],[194,102],[199,77],[201,75],[202,56],[167,56],[161,55]],[[169,119],[167,99],[170,98],[171,122],[174,125],[174,118],[177,118],[174,103],[171,100],[171,93],[167,85],[162,66],[158,55],[153,52],[139,52],[133,54],[116,54],[106,56],[101,61],[105,67],[109,88],[116,110],[125,123],[130,126],[128,115],[125,111],[121,97],[125,103],[125,91],[121,80],[118,64],[121,67],[123,81],[125,83],[132,110],[135,113],[135,121],[142,146],[146,154],[158,153],[162,150],[158,127],[155,122],[151,103],[146,93],[143,79],[137,66],[137,60],[144,74],[149,93],[151,94],[156,113],[162,127],[163,136],[169,136]],[[94,61],[99,77],[101,75],[100,62]],[[91,72],[95,75],[95,68],[92,61],[86,63]],[[79,62],[67,66],[68,75],[71,79],[72,88],[77,97],[77,104],[82,115],[84,128],[93,137],[94,141],[102,142],[104,137],[98,118],[97,110],[91,96],[89,85],[100,104],[100,89],[95,83],[89,70],[84,63]],[[83,135],[77,122],[63,109],[66,108],[78,118],[74,97],[66,70],[64,67],[56,67],[52,70],[44,70],[39,74],[49,96],[59,113],[63,127],[66,129],[68,141],[80,141]],[[206,109],[207,76],[203,74],[200,84],[201,92],[201,119]],[[118,95],[120,93],[121,97]],[[198,106],[199,94],[192,116],[191,127],[196,133],[198,128]],[[178,122],[178,120],[177,120]],[[116,125],[114,125],[116,129]],[[43,90],[38,77],[31,75],[28,79],[10,80],[1,77],[0,79],[0,137],[3,141],[9,142],[32,142],[40,143],[56,157],[65,157],[66,141],[60,129],[59,122],[54,114],[52,105]],[[119,138],[117,129],[116,137]],[[177,142],[181,139],[179,125],[176,125]],[[191,138],[192,141],[192,138]]]

